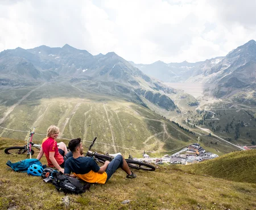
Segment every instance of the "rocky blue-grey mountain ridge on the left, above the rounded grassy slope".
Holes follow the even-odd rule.
[[[146,107],[156,105],[167,111],[179,111],[171,99],[176,90],[148,77],[114,52],[93,56],[68,44],[62,48],[42,45],[26,50],[18,47],[0,53],[0,66],[2,86],[68,82],[79,90],[119,96]],[[192,98],[192,102],[196,99]]]

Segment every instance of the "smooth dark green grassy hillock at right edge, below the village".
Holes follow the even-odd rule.
[[[236,182],[256,183],[256,150],[233,152],[196,165],[177,166],[184,171],[207,174]]]

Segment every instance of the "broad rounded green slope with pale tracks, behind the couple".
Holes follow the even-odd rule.
[[[60,137],[81,137],[86,142],[97,136],[95,147],[102,152],[135,154],[174,150],[195,138],[143,106],[65,84],[3,91],[0,108],[1,127],[18,130],[0,128],[2,137],[26,139],[28,133],[19,131],[36,127],[34,140],[40,142],[49,125],[55,124]]]

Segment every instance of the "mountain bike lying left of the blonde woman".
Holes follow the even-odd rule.
[[[9,148],[6,148],[5,149],[5,154],[13,154],[13,155],[16,155],[16,154],[24,154],[26,156],[31,156],[35,153],[33,149],[31,149],[32,147],[33,148],[36,148],[38,150],[41,149],[41,145],[40,144],[35,144],[34,142],[32,142],[32,138],[33,138],[33,135],[35,134],[35,128],[33,129],[33,131],[30,130],[30,136],[28,137],[27,139],[27,144],[24,145],[24,146],[11,146]]]

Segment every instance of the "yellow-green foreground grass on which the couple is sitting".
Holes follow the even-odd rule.
[[[196,175],[158,166],[156,171],[134,171],[137,179],[126,180],[118,169],[109,182],[93,184],[81,195],[58,192],[40,177],[16,173],[7,160],[17,162],[19,156],[8,156],[3,148],[23,141],[0,139],[0,208],[8,209],[255,209],[256,184],[233,182]],[[46,159],[41,159],[46,164]],[[246,170],[246,168],[245,168]],[[123,200],[130,200],[122,204]]]

